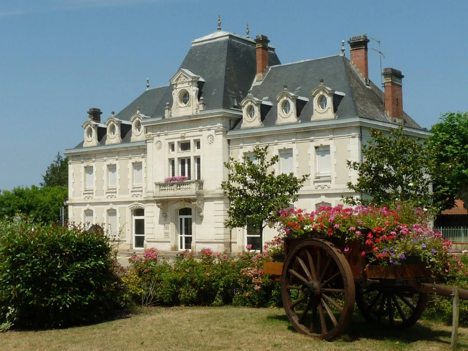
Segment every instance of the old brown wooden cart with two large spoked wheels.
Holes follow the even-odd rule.
[[[408,328],[423,314],[428,293],[453,293],[436,284],[444,278],[425,264],[367,264],[362,251],[370,247],[333,237],[286,238],[285,262],[264,263],[264,273],[281,281],[283,305],[297,331],[334,339],[347,328],[355,302],[368,322]],[[458,292],[468,300],[468,290]]]

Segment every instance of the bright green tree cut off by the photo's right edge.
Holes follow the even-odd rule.
[[[468,187],[468,112],[448,112],[431,128],[428,147],[435,161],[434,190],[438,201],[466,197]],[[464,196],[465,195],[465,196]],[[465,202],[467,205],[467,202]]]

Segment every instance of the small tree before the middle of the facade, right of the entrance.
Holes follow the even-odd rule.
[[[224,163],[229,174],[221,187],[230,201],[229,217],[224,225],[228,228],[252,227],[262,239],[263,229],[275,222],[279,210],[297,201],[298,191],[309,175],[300,178],[293,173],[276,175],[269,168],[278,162],[278,155],[267,161],[268,146],[256,146],[253,152],[254,161],[244,156],[243,162],[231,157]]]

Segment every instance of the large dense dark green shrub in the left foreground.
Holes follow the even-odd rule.
[[[102,232],[0,223],[0,323],[56,328],[102,319],[117,307],[113,263]]]

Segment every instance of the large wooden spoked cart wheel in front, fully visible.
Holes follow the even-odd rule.
[[[286,257],[281,296],[297,331],[334,339],[348,327],[354,309],[350,265],[342,252],[325,240],[300,241]]]

